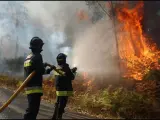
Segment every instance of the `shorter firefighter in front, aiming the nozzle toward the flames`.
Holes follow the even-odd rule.
[[[62,119],[68,97],[73,95],[72,80],[75,78],[77,68],[74,67],[70,69],[69,65],[66,63],[66,58],[67,56],[63,53],[57,56],[58,66],[56,68],[64,75],[60,75],[54,71],[57,98],[52,120]]]

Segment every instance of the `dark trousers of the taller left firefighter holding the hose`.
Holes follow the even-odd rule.
[[[26,113],[24,114],[24,120],[36,120],[40,107],[41,96],[42,94],[39,93],[27,95],[28,108],[26,109]]]

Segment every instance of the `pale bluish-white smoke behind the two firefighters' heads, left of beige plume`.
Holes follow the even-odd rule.
[[[0,6],[1,58],[15,57],[16,49],[18,56],[29,53],[30,39],[38,36],[45,42],[44,61],[52,64],[59,52],[70,57],[68,50],[72,49],[72,38],[82,28],[76,25],[76,14],[79,9],[88,9],[84,1],[5,1],[0,2]]]

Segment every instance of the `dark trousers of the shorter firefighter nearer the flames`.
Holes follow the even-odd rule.
[[[67,101],[68,101],[68,96],[57,96],[52,120],[62,119],[62,115],[67,105]]]

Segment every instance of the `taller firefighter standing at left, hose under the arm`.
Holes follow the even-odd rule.
[[[42,55],[42,46],[44,45],[43,41],[38,37],[33,37],[30,41],[31,53],[27,56],[24,61],[24,77],[27,78],[30,73],[35,71],[35,76],[27,83],[25,87],[25,92],[28,99],[28,108],[24,114],[24,120],[36,120],[41,96],[43,95],[42,90],[42,79],[43,74],[47,74],[48,70],[45,70],[47,64],[43,64]]]

